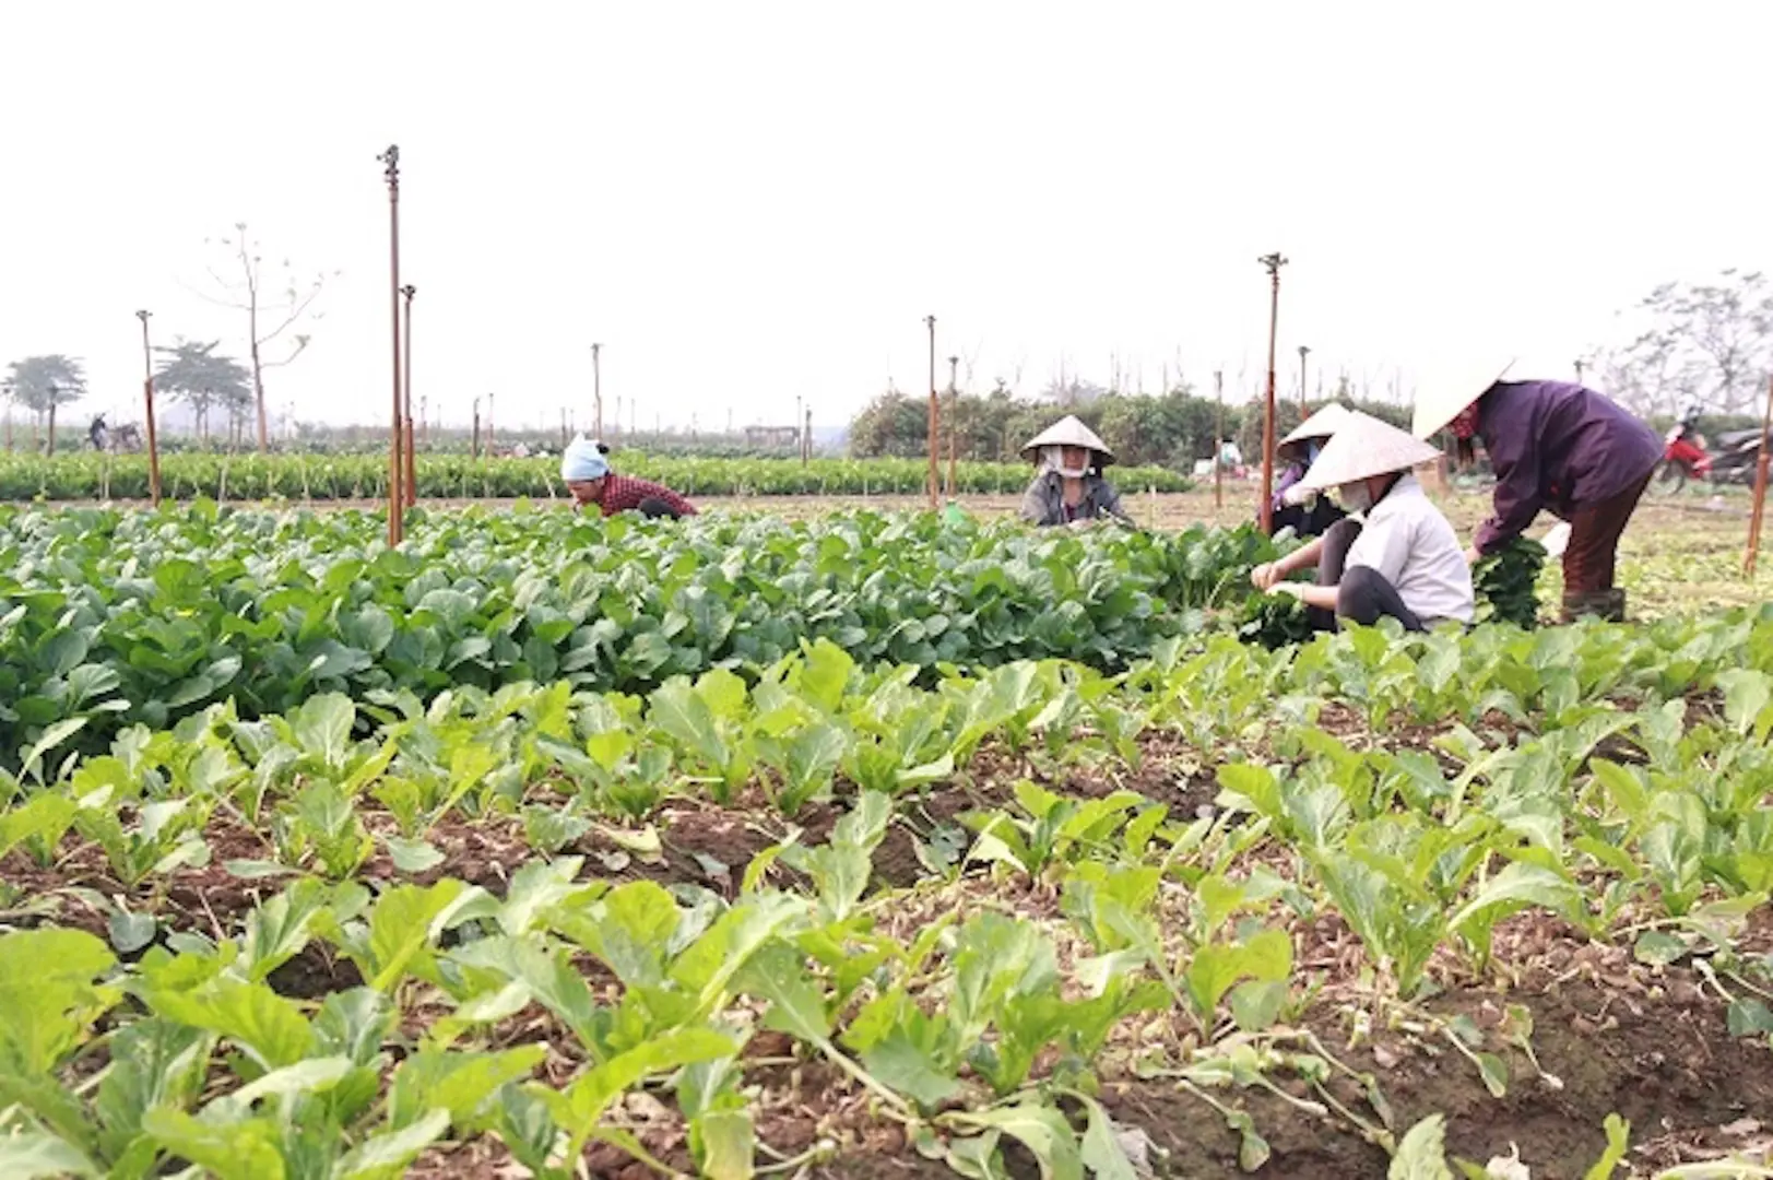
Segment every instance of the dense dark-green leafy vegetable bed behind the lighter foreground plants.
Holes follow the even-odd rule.
[[[415,513],[394,552],[379,532],[353,511],[0,511],[0,749],[66,719],[105,738],[223,699],[255,717],[316,692],[755,676],[812,639],[867,665],[1117,669],[1236,602],[1269,552],[1254,529],[874,513]]]

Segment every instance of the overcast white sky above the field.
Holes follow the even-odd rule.
[[[1773,266],[1773,5],[0,0],[0,362],[85,358],[129,417],[140,328],[245,220],[340,270],[275,410],[381,421],[402,153],[415,394],[454,421],[835,426],[1119,355],[1282,389],[1493,348],[1567,366],[1654,282]],[[943,380],[947,366],[941,366]],[[1406,378],[1408,380],[1408,378]],[[1316,380],[1312,382],[1316,385]],[[626,405],[631,405],[628,401]]]

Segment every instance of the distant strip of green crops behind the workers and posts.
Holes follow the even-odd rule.
[[[793,460],[647,456],[622,451],[626,476],[661,481],[684,495],[904,495],[926,488],[922,460]],[[947,465],[941,474],[947,479]],[[959,493],[1019,493],[1027,463],[961,463]],[[420,454],[418,495],[427,500],[564,497],[558,458],[473,460]],[[1113,468],[1124,492],[1183,492],[1190,481],[1161,467]],[[363,500],[388,493],[388,460],[378,454],[176,452],[160,460],[161,493],[174,500]],[[0,500],[145,500],[147,456],[98,452],[0,454]]]

